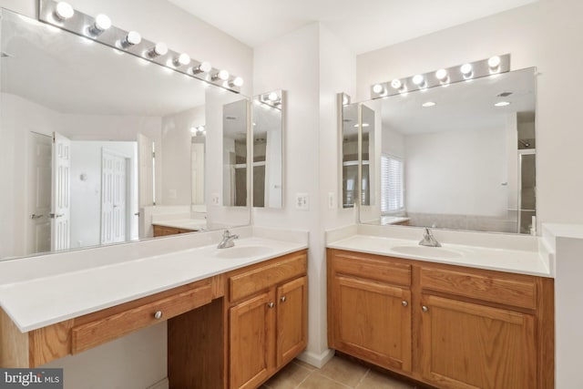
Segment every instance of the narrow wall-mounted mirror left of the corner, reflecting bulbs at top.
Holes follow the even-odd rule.
[[[283,99],[282,90],[253,97],[253,207],[283,205]]]

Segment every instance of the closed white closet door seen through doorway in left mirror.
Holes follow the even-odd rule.
[[[101,155],[101,243],[126,241],[126,158],[103,149]]]

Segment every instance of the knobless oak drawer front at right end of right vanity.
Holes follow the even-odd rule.
[[[516,307],[537,307],[537,285],[525,277],[496,276],[490,273],[474,274],[424,267],[421,270],[423,289],[452,293],[487,302],[498,302]]]

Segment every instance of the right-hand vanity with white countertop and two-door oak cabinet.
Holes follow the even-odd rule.
[[[554,387],[554,280],[542,259],[445,246],[328,244],[329,346],[436,387]]]

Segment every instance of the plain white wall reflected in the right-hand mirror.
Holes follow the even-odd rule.
[[[404,145],[407,211],[506,217],[506,128],[409,135]]]

